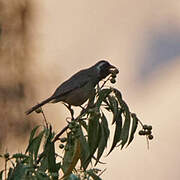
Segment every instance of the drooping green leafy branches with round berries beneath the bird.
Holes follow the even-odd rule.
[[[108,80],[112,81],[108,78],[105,83]],[[24,153],[0,156],[5,160],[0,179],[100,180],[103,171],[95,166],[102,163],[100,159],[105,154],[110,134],[113,140],[106,155],[115,147],[123,149],[129,146],[139,124],[142,126],[139,134],[145,135],[147,141],[152,139],[152,126],[143,125],[136,114],[130,112],[121,92],[113,87],[105,88],[105,83],[97,88],[90,103],[77,117],[66,105],[72,117],[56,135],[44,112],[38,111],[43,114],[45,125],[34,127]],[[110,114],[112,120],[109,120]],[[114,131],[110,132],[110,126]],[[59,143],[59,148],[55,148],[55,143]]]

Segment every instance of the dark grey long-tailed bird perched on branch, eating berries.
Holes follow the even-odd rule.
[[[31,107],[25,113],[28,115],[49,102],[81,106],[91,97],[96,85],[111,74],[113,69],[117,68],[107,60],[98,61],[95,65],[72,75],[55,90],[52,96]]]

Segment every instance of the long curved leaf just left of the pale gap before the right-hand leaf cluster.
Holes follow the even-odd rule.
[[[104,113],[102,113],[102,117],[101,117],[100,132],[101,132],[101,136],[100,136],[101,138],[100,138],[99,145],[98,145],[98,152],[97,152],[97,158],[96,158],[95,165],[99,162],[99,159],[101,158],[101,156],[104,152],[104,149],[107,146],[107,141],[108,141],[109,134],[110,134],[108,122],[107,122],[107,119],[106,119]]]

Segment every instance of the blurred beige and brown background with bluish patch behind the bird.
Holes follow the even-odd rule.
[[[180,179],[180,2],[176,0],[0,0],[0,152],[21,152],[36,113],[79,69],[107,59],[132,112],[153,125],[154,140],[135,136],[100,168],[103,179]],[[44,107],[56,132],[68,112]],[[2,164],[2,163],[0,163]]]

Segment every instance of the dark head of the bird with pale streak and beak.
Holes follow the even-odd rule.
[[[101,60],[99,62],[97,62],[94,67],[96,68],[96,72],[98,73],[98,78],[99,78],[99,81],[101,81],[102,79],[106,78],[109,74],[111,74],[111,72],[113,70],[117,70],[118,69],[111,65],[108,61],[106,60]]]

